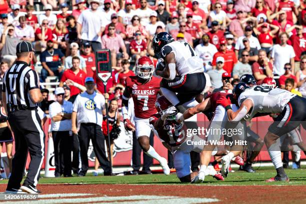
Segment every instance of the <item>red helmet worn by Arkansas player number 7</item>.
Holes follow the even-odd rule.
[[[136,62],[137,75],[140,78],[151,78],[154,72],[154,65],[148,56],[141,56]]]

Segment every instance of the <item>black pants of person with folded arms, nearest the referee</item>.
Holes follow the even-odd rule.
[[[72,169],[72,135],[69,135],[69,131],[52,131],[52,139],[54,145],[54,174],[55,176],[60,176],[61,174],[70,176]]]

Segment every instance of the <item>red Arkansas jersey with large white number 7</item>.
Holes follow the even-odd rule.
[[[146,83],[139,82],[138,76],[128,76],[124,81],[128,95],[122,95],[123,99],[133,98],[135,116],[147,119],[157,112],[155,108],[156,95],[159,91],[160,78],[152,76]]]

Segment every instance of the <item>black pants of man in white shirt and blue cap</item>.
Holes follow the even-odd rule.
[[[98,159],[100,166],[104,170],[104,175],[109,175],[110,166],[107,156],[105,154],[105,146],[104,146],[105,137],[102,133],[101,126],[95,123],[80,124],[78,131],[78,140],[79,140],[82,167],[78,174],[85,175],[88,170],[87,151],[90,139],[92,142],[94,154]]]

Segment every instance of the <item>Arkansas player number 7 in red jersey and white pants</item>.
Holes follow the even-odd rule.
[[[168,175],[170,169],[167,160],[161,157],[149,144],[151,126],[149,117],[156,113],[155,101],[159,91],[160,79],[153,76],[154,65],[147,56],[140,57],[136,62],[136,76],[128,76],[125,79],[125,89],[122,95],[122,115],[126,130],[136,131],[136,138],[148,156],[155,158],[161,165],[163,173]],[[128,99],[133,98],[134,122],[133,125],[128,118]]]

